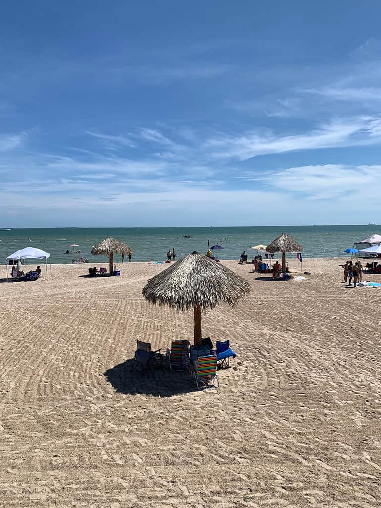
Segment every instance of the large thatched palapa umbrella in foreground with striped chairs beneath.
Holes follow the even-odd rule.
[[[195,345],[200,345],[201,310],[220,303],[234,306],[250,293],[250,286],[229,268],[194,251],[150,279],[142,293],[153,304],[170,305],[178,310],[193,307]]]

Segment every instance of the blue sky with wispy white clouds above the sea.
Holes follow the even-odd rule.
[[[0,227],[379,223],[380,15],[6,3]]]

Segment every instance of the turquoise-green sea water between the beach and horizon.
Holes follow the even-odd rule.
[[[164,261],[168,249],[175,247],[180,258],[193,250],[206,252],[210,246],[222,245],[216,251],[219,259],[239,259],[242,250],[251,258],[256,251],[250,247],[259,243],[269,244],[281,233],[293,236],[302,246],[305,258],[345,257],[343,250],[352,247],[354,241],[372,233],[381,234],[381,226],[271,226],[229,228],[50,228],[0,230],[0,264],[15,250],[33,246],[50,252],[52,263],[71,263],[72,259],[85,257],[90,263],[106,261],[102,256],[91,256],[92,245],[107,236],[128,244],[133,250],[133,261]],[[188,233],[190,238],[183,238]],[[30,238],[33,241],[29,241]],[[69,245],[78,243],[81,254],[65,254]],[[295,255],[290,255],[295,256]],[[124,262],[128,261],[127,257]],[[120,262],[120,256],[115,256]]]

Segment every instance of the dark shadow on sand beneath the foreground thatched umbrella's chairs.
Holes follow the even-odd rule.
[[[167,366],[152,366],[147,372],[141,366],[134,366],[131,358],[106,370],[104,375],[117,393],[124,395],[152,395],[153,397],[171,397],[196,390],[196,385],[186,371],[172,372]]]

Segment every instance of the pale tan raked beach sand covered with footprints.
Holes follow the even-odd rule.
[[[193,337],[191,312],[141,296],[165,265],[1,283],[0,506],[380,506],[381,288],[347,289],[339,263],[283,282],[224,262],[252,292],[203,315],[238,355],[218,392],[131,374],[136,339]]]

